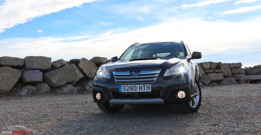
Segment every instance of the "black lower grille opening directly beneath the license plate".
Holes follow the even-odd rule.
[[[112,98],[159,98],[161,95],[161,91],[135,93],[138,93],[137,97],[134,96],[134,92],[111,92],[111,95]]]

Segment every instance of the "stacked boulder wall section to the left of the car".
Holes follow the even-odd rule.
[[[32,92],[72,93],[92,90],[98,67],[110,62],[104,57],[63,59],[50,57],[0,57],[0,93],[27,95]]]

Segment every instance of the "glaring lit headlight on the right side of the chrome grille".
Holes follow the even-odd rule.
[[[174,67],[167,69],[163,76],[169,76],[169,75],[174,75],[174,74],[183,74],[187,71],[188,71],[188,64],[184,60],[184,61],[181,61],[180,63],[176,64]]]

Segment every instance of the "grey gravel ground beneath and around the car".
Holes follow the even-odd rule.
[[[201,90],[201,106],[193,114],[177,113],[171,105],[126,105],[106,114],[91,93],[4,96],[0,129],[18,125],[36,134],[261,134],[260,84]]]

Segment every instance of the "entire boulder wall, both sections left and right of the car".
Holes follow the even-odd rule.
[[[63,59],[51,62],[50,57],[0,57],[0,93],[27,95],[32,92],[73,93],[91,91],[97,69],[110,62],[104,57]],[[261,75],[261,65],[241,68],[242,63],[202,62],[200,83],[204,85],[245,84],[241,75]],[[251,81],[251,83],[261,83]],[[201,85],[202,85],[201,84]]]

